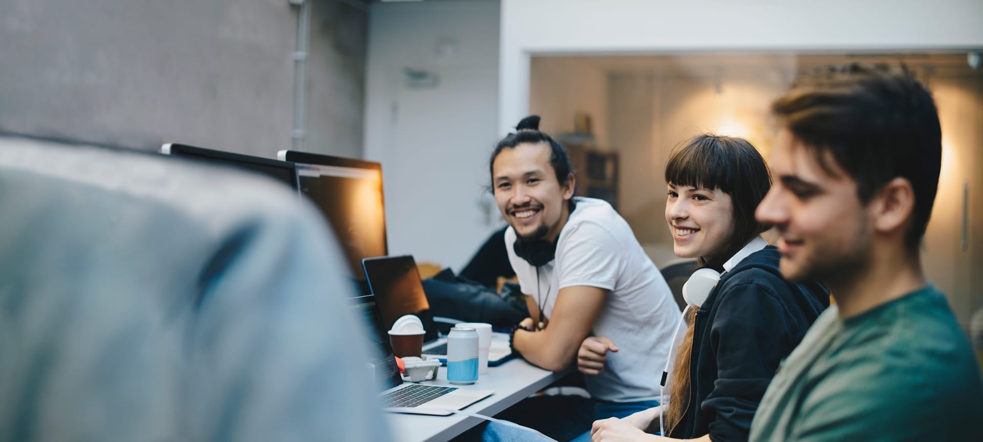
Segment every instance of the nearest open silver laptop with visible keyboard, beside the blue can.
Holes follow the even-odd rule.
[[[369,294],[353,297],[351,300],[356,316],[365,318],[368,327],[370,343],[373,345],[369,365],[375,371],[376,389],[383,408],[403,408],[398,411],[417,414],[448,415],[451,413],[445,410],[462,410],[494,393],[492,390],[403,383],[392,347],[389,347],[389,340],[382,339],[388,335],[381,332],[376,297]]]

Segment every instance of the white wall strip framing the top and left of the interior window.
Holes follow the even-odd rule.
[[[983,47],[978,0],[501,0],[498,133],[529,109],[530,55]]]

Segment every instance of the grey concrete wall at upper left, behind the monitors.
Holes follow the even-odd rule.
[[[362,156],[360,5],[313,4],[307,150]],[[3,0],[0,131],[273,157],[291,143],[297,14],[287,0]]]

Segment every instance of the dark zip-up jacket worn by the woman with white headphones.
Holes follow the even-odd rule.
[[[752,253],[723,274],[696,314],[691,398],[670,434],[746,441],[751,419],[781,359],[830,305],[821,284],[781,278],[778,250]]]

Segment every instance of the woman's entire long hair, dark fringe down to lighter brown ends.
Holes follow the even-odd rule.
[[[665,182],[675,186],[718,189],[730,195],[733,205],[733,232],[717,256],[700,257],[700,265],[723,271],[723,263],[745,244],[771,226],[754,219],[754,211],[772,187],[772,177],[758,150],[747,140],[703,134],[673,150],[665,163]],[[696,326],[697,308],[686,310],[686,334],[675,348],[669,374],[669,405],[665,411],[667,434],[682,420],[690,404],[690,353]]]

